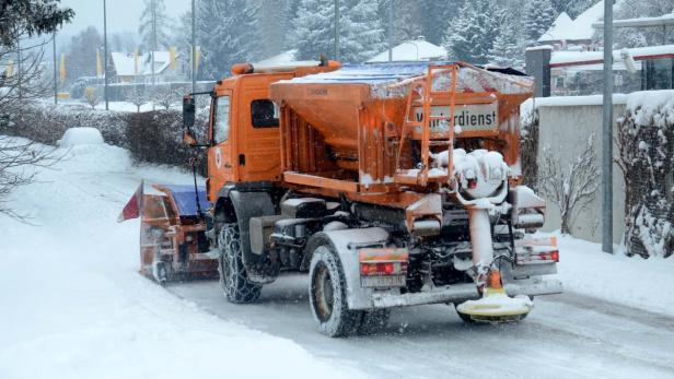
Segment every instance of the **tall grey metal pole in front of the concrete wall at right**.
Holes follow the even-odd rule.
[[[613,0],[604,1],[602,250],[613,253]]]

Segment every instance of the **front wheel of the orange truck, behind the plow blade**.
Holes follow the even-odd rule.
[[[243,265],[241,237],[236,223],[224,224],[218,234],[218,271],[220,286],[230,303],[253,303],[259,297],[262,285],[248,282],[246,268]]]

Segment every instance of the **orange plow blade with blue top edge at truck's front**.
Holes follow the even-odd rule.
[[[159,283],[218,277],[217,254],[210,250],[207,225],[199,209],[207,212],[205,188],[143,185],[125,206],[119,221],[140,217],[140,273]]]

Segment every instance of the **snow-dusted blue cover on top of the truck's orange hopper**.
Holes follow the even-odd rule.
[[[375,97],[397,97],[405,92],[390,91],[388,86],[406,80],[426,75],[429,64],[453,64],[454,62],[387,62],[345,64],[332,72],[280,81],[280,84],[368,84]],[[462,63],[456,88],[458,92],[500,92],[521,94],[531,92],[533,80],[526,74],[509,68],[483,68]],[[451,83],[449,70],[433,73],[433,91],[448,91]]]

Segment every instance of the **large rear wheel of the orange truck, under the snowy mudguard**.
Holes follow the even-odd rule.
[[[309,276],[309,300],[321,333],[333,337],[355,334],[363,312],[348,308],[346,279],[330,247],[321,245],[314,250]]]

